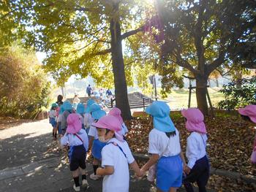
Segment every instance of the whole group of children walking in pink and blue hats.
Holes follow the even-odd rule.
[[[250,105],[239,112],[256,123],[255,107]],[[151,158],[140,169],[125,139],[128,129],[121,118],[121,110],[117,107],[113,107],[107,115],[92,99],[87,101],[86,107],[78,104],[76,111],[68,101],[52,104],[49,115],[53,136],[58,129],[61,145],[69,146],[69,169],[75,191],[80,191],[80,174],[82,187],[88,186],[86,153],[91,153],[94,158],[94,172],[90,179],[99,180],[103,177],[102,191],[105,192],[129,191],[129,167],[138,177],[143,177],[148,170],[148,180],[154,180],[155,175],[157,191],[176,191],[182,184],[187,191],[193,191],[192,183],[197,183],[200,192],[206,191],[210,166],[202,112],[197,108],[181,111],[190,133],[187,138],[187,162],[181,150],[179,131],[170,119],[170,107],[165,102],[154,101],[146,108],[146,113],[153,122],[148,136],[148,153]],[[256,139],[252,162],[256,161],[255,153]]]

